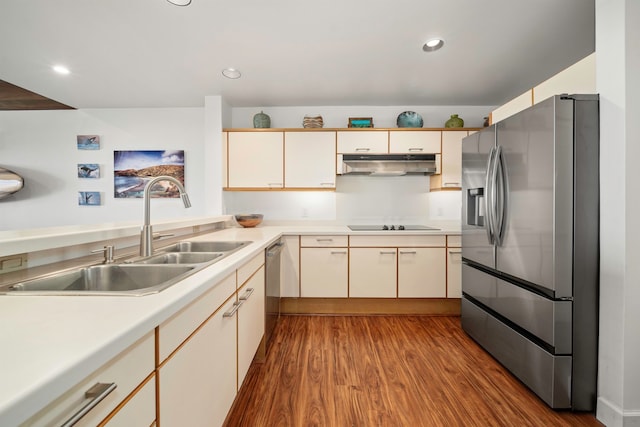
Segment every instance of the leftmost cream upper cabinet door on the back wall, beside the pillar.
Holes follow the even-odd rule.
[[[228,132],[229,188],[282,188],[283,132]]]

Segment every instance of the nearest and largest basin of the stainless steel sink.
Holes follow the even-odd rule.
[[[194,265],[95,265],[17,283],[2,292],[41,295],[147,295],[184,279]]]

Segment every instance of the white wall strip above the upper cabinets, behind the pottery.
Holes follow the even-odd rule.
[[[321,115],[324,127],[346,128],[349,117],[372,117],[376,128],[395,128],[403,111],[415,111],[422,116],[424,127],[444,127],[451,114],[464,119],[465,127],[482,127],[484,117],[495,106],[324,106],[324,107],[243,107],[233,109],[232,127],[252,128],[253,116],[264,111],[271,117],[272,128],[302,127],[305,115]]]

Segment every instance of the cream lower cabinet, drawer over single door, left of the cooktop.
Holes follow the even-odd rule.
[[[345,298],[348,294],[347,236],[301,236],[300,296]]]

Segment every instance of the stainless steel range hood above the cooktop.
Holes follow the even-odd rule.
[[[338,175],[433,175],[436,154],[339,154]]]

